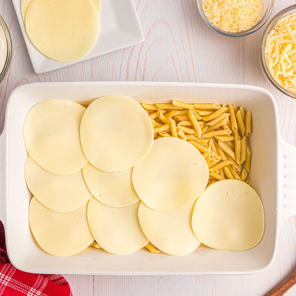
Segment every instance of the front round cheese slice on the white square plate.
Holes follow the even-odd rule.
[[[92,0],[34,0],[25,21],[33,45],[59,62],[86,56],[99,34],[98,13]]]

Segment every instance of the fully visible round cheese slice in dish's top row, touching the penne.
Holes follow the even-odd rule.
[[[127,96],[96,99],[83,115],[81,144],[86,158],[99,170],[127,170],[152,147],[154,133],[143,107]]]

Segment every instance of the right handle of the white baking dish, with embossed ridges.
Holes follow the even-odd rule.
[[[296,215],[296,147],[281,139],[279,155],[280,182],[279,226]]]

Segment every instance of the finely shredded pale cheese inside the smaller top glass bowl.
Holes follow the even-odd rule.
[[[208,21],[224,32],[243,32],[263,15],[264,0],[202,0]]]

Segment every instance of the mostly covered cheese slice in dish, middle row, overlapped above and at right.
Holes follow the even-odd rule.
[[[87,163],[83,176],[91,194],[109,207],[125,207],[140,198],[131,181],[132,169],[120,172],[104,172]]]

